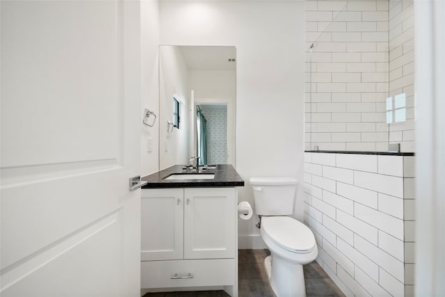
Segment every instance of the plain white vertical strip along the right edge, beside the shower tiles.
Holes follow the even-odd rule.
[[[414,1],[416,296],[445,292],[445,2]]]

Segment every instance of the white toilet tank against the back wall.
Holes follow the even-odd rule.
[[[293,177],[251,177],[255,214],[288,216],[293,213],[298,180]]]

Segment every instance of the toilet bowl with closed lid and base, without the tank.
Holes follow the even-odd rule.
[[[312,231],[288,216],[266,216],[261,220],[261,237],[270,250],[264,265],[275,295],[306,296],[303,265],[318,255]]]

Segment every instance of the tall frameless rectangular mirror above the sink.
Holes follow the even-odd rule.
[[[235,166],[236,49],[159,46],[159,169]]]

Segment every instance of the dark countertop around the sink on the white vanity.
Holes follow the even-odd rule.
[[[147,181],[142,188],[197,188],[197,187],[227,187],[244,186],[244,180],[238,175],[238,172],[229,164],[217,165],[214,169],[200,170],[202,173],[214,173],[213,179],[164,179],[172,174],[186,173],[184,165],[175,165],[165,168],[159,172],[142,177],[141,180]],[[188,172],[197,173],[197,172]]]

